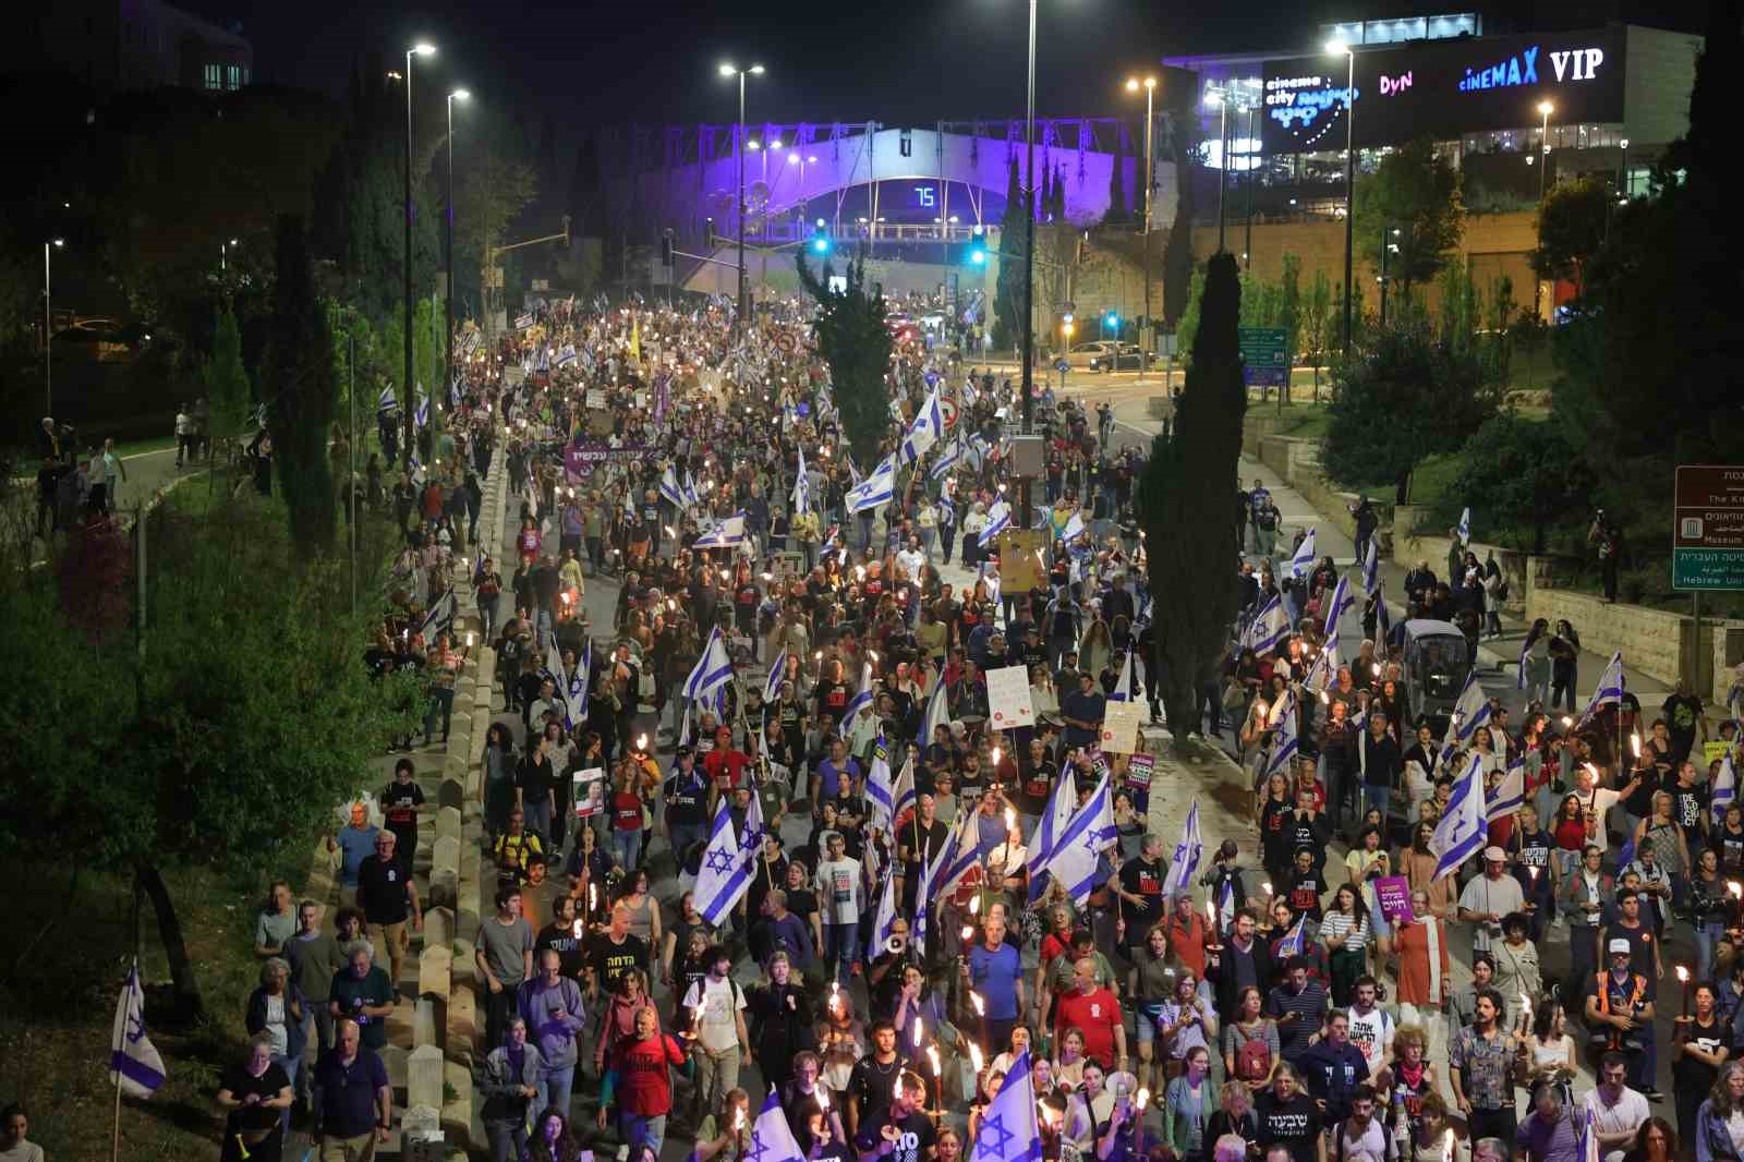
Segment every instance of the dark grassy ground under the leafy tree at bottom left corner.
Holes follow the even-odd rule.
[[[133,881],[63,867],[0,865],[9,883],[31,885],[0,904],[16,933],[0,979],[0,1094],[30,1111],[31,1139],[51,1159],[108,1153],[115,1113],[110,1022],[133,947]],[[302,881],[307,867],[293,879]],[[153,1001],[169,963],[148,902],[140,913],[140,975],[146,1031],[167,1080],[150,1101],[124,1099],[124,1155],[145,1162],[218,1157],[223,1070],[241,1061],[242,1014],[258,981],[255,913],[265,885],[237,885],[211,871],[166,872],[188,933],[208,1017],[171,1028]]]

